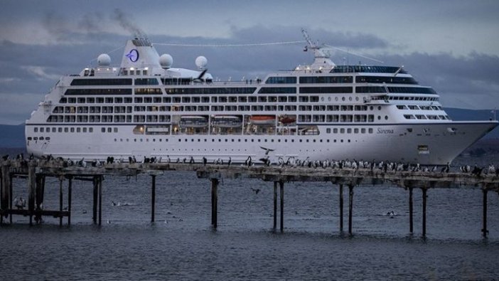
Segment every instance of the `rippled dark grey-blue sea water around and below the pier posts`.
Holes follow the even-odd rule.
[[[14,196],[27,198],[26,180],[14,181]],[[67,206],[68,181],[63,187]],[[67,218],[60,227],[58,218],[48,217],[28,226],[23,216],[1,226],[0,279],[499,279],[499,196],[488,193],[490,232],[482,238],[479,189],[430,189],[426,238],[419,189],[413,192],[410,234],[407,190],[355,187],[353,235],[348,235],[348,188],[341,233],[338,186],[331,183],[284,185],[284,233],[272,230],[272,182],[221,181],[216,230],[210,226],[210,181],[193,172],[156,177],[155,223],[150,223],[150,176],[104,178],[102,226],[92,224],[92,192],[91,182],[73,181],[71,226]],[[48,178],[46,210],[58,210],[58,193],[58,180]],[[392,211],[394,216],[387,215]],[[277,215],[279,228],[279,210]]]

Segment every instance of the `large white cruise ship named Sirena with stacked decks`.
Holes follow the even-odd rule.
[[[26,120],[35,157],[128,161],[268,159],[449,164],[498,125],[456,122],[403,67],[336,65],[306,31],[310,65],[239,81],[213,79],[207,59],[173,68],[146,36],[66,75]]]

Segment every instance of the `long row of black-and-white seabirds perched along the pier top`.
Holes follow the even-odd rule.
[[[301,160],[297,159],[296,157],[279,157],[277,159],[277,162],[272,162],[267,151],[265,153],[265,156],[258,159],[259,162],[255,163],[253,161],[252,157],[249,156],[245,160],[244,164],[241,164],[241,166],[254,166],[255,164],[262,164],[263,166],[271,166],[271,165],[276,165],[281,168],[284,167],[292,167],[292,168],[299,168],[299,167],[304,167],[304,168],[311,168],[311,169],[364,169],[364,170],[382,170],[384,172],[389,172],[389,171],[413,171],[413,172],[433,172],[433,173],[449,173],[451,166],[449,163],[447,163],[445,166],[422,166],[420,164],[409,164],[409,163],[401,163],[401,162],[394,162],[394,161],[357,161],[355,159],[349,160],[311,160],[309,157],[306,157],[306,159]],[[4,155],[1,157],[3,161],[7,161],[9,158],[9,155]],[[25,159],[23,154],[18,154],[15,159],[17,161],[21,161],[21,166],[24,166],[28,164],[28,160],[34,159],[33,154],[31,154],[28,159]],[[163,161],[164,160],[164,161]],[[74,161],[72,159],[63,159],[62,157],[57,157],[54,158],[52,155],[47,155],[41,157],[41,161],[59,161],[63,163],[63,166],[80,166],[80,167],[87,167],[87,165],[90,165],[92,167],[98,167],[98,166],[103,166],[104,164],[113,164],[113,163],[161,163],[161,162],[166,162],[166,163],[176,163],[176,164],[195,164],[196,161],[194,157],[190,157],[189,159],[187,157],[184,157],[183,159],[180,159],[179,157],[175,159],[175,161],[172,161],[172,159],[167,155],[166,159],[162,159],[161,157],[144,157],[141,161],[137,161],[137,159],[133,157],[128,157],[128,161],[125,159],[114,159],[114,157],[107,157],[106,161],[99,161],[97,159],[93,160],[87,160],[85,158],[82,158],[78,161]],[[205,166],[208,164],[208,159],[206,157],[203,157],[202,163]],[[222,158],[218,159],[213,159],[212,163],[214,165],[227,165],[231,166],[232,165],[232,158],[229,157],[224,161]],[[472,174],[474,176],[482,176],[482,175],[495,175],[499,176],[499,169],[496,169],[493,164],[489,164],[488,166],[481,167],[475,164],[474,166],[470,165],[464,165],[464,166],[459,166],[459,171],[461,171],[464,174]]]

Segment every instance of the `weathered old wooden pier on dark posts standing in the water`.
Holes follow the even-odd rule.
[[[73,181],[90,181],[93,186],[92,221],[102,223],[102,181],[104,176],[151,176],[151,222],[154,222],[156,201],[156,176],[174,171],[193,171],[199,179],[208,179],[211,184],[211,225],[218,225],[218,184],[222,179],[261,179],[274,183],[274,230],[277,229],[277,186],[279,186],[279,230],[284,231],[284,184],[293,181],[331,182],[339,189],[340,231],[343,232],[343,187],[348,187],[348,233],[353,233],[353,194],[359,185],[390,185],[402,187],[409,191],[409,232],[414,230],[413,223],[413,189],[422,190],[422,235],[426,236],[426,191],[428,189],[481,189],[483,192],[483,237],[487,236],[487,195],[488,191],[499,193],[499,176],[496,174],[476,176],[464,173],[440,173],[423,171],[382,171],[381,169],[333,169],[279,166],[228,166],[215,164],[183,164],[183,163],[114,163],[98,166],[68,166],[66,161],[31,160],[1,161],[0,188],[0,224],[13,215],[29,216],[30,224],[41,221],[42,216],[63,218],[71,223],[71,193]],[[26,209],[13,208],[12,179],[26,179],[28,188],[28,204]],[[60,204],[58,210],[43,209],[45,178],[55,177],[59,180]],[[68,208],[63,209],[63,181],[68,181]],[[15,207],[15,206],[14,206]]]

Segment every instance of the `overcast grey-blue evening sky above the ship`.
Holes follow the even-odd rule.
[[[336,64],[404,65],[446,107],[499,109],[499,1],[23,1],[0,9],[0,124],[20,124],[61,75],[112,63],[134,31],[221,80],[262,78],[310,63],[304,43],[178,47],[159,43],[301,41],[301,28],[334,51]],[[362,57],[354,54],[363,55]],[[383,63],[378,63],[375,58]]]

